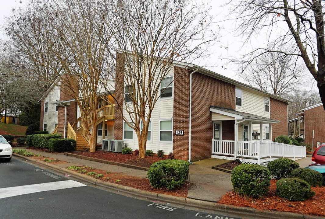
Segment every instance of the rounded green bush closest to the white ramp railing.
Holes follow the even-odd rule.
[[[279,158],[267,164],[267,168],[275,179],[282,179],[291,176],[291,172],[297,169],[299,164],[289,158]]]

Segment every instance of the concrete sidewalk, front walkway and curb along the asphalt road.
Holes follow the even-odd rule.
[[[13,147],[13,149],[22,149],[22,147]],[[24,148],[25,149],[25,148]],[[64,155],[63,153],[47,153],[47,152],[39,152],[33,151],[30,149],[25,149],[28,152],[32,152],[34,154],[40,154],[41,156],[58,159],[61,161],[66,161],[68,163],[65,164],[48,164],[43,161],[38,161],[32,159],[30,157],[25,157],[21,155],[17,155],[13,153],[14,156],[21,157],[24,160],[28,160],[32,163],[37,163],[39,165],[45,165],[49,168],[52,168],[62,174],[69,174],[73,177],[79,178],[81,180],[85,180],[87,182],[104,186],[107,188],[115,189],[117,191],[123,191],[124,193],[129,193],[141,197],[146,197],[150,200],[156,201],[164,201],[174,204],[186,205],[188,207],[200,207],[202,209],[215,210],[219,212],[227,212],[231,211],[232,213],[245,216],[257,216],[263,215],[263,218],[306,218],[306,215],[294,214],[294,213],[285,213],[285,212],[260,212],[253,208],[243,208],[231,206],[231,210],[229,206],[218,204],[219,199],[227,192],[232,191],[232,185],[230,181],[231,174],[219,171],[216,169],[212,169],[212,166],[226,163],[228,161],[221,159],[209,158],[197,162],[193,162],[189,165],[189,181],[194,183],[194,186],[188,190],[188,197],[174,197],[165,194],[158,194],[153,192],[142,191],[139,189],[133,189],[126,186],[117,185],[109,182],[102,182],[99,179],[85,176],[83,174],[78,174],[71,170],[66,169],[69,166],[89,166],[95,169],[115,172],[117,174],[123,174],[127,176],[136,176],[141,178],[147,178],[147,171],[138,170],[123,166],[111,165],[99,163],[96,161],[85,160],[81,158],[76,158],[72,156]],[[297,160],[301,167],[308,166],[311,163],[311,158],[307,157],[304,159]],[[281,214],[281,215],[279,215]],[[309,216],[308,218],[317,218],[316,216]]]

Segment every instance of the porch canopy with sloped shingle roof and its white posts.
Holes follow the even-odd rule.
[[[269,137],[272,139],[272,124],[277,124],[280,121],[275,119],[266,118],[263,116],[257,116],[250,113],[239,112],[232,109],[226,109],[218,106],[210,106],[212,121],[227,121],[235,120],[235,141],[238,140],[238,124],[248,123],[249,133],[252,133],[252,124],[260,125],[260,136],[262,137],[263,124],[269,124]],[[265,134],[265,133],[264,133]],[[252,135],[249,135],[248,141],[252,140]]]

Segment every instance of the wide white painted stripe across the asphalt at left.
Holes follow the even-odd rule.
[[[49,182],[49,183],[40,183],[33,185],[25,185],[25,186],[16,186],[16,187],[8,187],[0,189],[0,199],[30,194],[34,192],[44,192],[58,189],[69,189],[74,187],[86,186],[85,184],[79,183],[73,180],[59,181],[59,182]]]

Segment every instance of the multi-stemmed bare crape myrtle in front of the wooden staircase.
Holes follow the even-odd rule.
[[[8,45],[27,63],[31,77],[50,81],[75,99],[90,152],[96,145],[99,81],[108,78],[108,47],[100,38],[110,38],[104,22],[109,11],[96,0],[30,0],[6,21]]]

